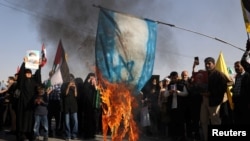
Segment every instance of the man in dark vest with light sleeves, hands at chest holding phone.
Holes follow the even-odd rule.
[[[167,108],[169,111],[169,136],[173,140],[185,140],[185,118],[184,107],[185,97],[188,95],[187,87],[179,80],[178,73],[170,73],[170,84],[165,91],[168,97]]]

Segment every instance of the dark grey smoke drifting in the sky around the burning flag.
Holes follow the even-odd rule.
[[[164,12],[171,10],[171,4],[160,0],[26,0],[25,6],[35,11],[32,16],[40,40],[47,45],[48,66],[52,66],[59,40],[68,56],[68,65],[75,76],[85,77],[95,65],[95,34],[99,5],[114,11],[149,19],[161,19]],[[156,8],[157,7],[157,8]],[[164,12],[163,12],[164,11]],[[167,52],[173,48],[174,40],[169,28],[160,27],[157,41],[155,69],[165,70],[171,66],[173,56]],[[161,39],[162,38],[162,39]],[[170,62],[170,63],[166,63]],[[164,65],[163,65],[164,64]],[[159,67],[160,66],[160,67]],[[162,67],[164,66],[164,67]],[[157,68],[159,67],[159,68]],[[158,71],[155,71],[158,72]]]

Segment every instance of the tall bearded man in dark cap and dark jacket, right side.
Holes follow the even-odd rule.
[[[221,125],[220,106],[223,102],[229,83],[232,81],[219,70],[215,68],[215,60],[212,57],[207,57],[204,60],[205,68],[208,73],[208,88],[207,92],[202,93],[203,99],[201,104],[201,127],[204,135],[204,140],[208,140],[208,125]]]

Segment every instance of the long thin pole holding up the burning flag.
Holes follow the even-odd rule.
[[[97,7],[97,8],[104,8],[102,6],[99,6],[99,5],[95,5],[93,4],[93,7]],[[115,10],[111,10],[111,9],[108,9],[108,8],[104,8],[104,9],[107,9],[107,10],[110,10],[110,11],[113,11],[113,12],[118,12],[118,11],[115,11]],[[122,12],[118,12],[118,13],[122,13]],[[135,16],[134,16],[135,17]],[[138,17],[137,17],[138,18]],[[209,35],[206,35],[206,34],[203,34],[203,33],[200,33],[200,32],[196,32],[196,31],[193,31],[193,30],[189,30],[189,29],[186,29],[186,28],[182,28],[182,27],[178,27],[178,26],[175,26],[174,24],[169,24],[169,23],[166,23],[166,22],[162,22],[162,21],[155,21],[155,20],[152,20],[152,19],[148,19],[148,18],[141,18],[141,19],[145,19],[145,20],[149,20],[149,21],[153,21],[153,22],[156,22],[158,24],[162,24],[162,25],[167,25],[167,26],[170,26],[170,27],[174,27],[174,28],[178,28],[180,30],[184,30],[184,31],[187,31],[187,32],[191,32],[191,33],[194,33],[194,34],[198,34],[198,35],[201,35],[201,36],[204,36],[204,37],[207,37],[207,38],[210,38],[210,39],[214,39],[216,41],[219,41],[219,42],[222,42],[224,44],[227,44],[227,45],[230,45],[236,49],[239,49],[241,51],[245,51],[244,49],[240,48],[240,47],[237,47],[231,43],[228,43],[224,40],[221,40],[219,38],[216,38],[216,37],[211,37]],[[249,35],[248,35],[248,39],[249,39]]]

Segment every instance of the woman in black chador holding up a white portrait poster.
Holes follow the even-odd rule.
[[[17,109],[17,140],[32,140],[33,135],[33,98],[37,84],[41,84],[41,67],[32,76],[32,71],[25,68],[27,58],[24,58],[17,80],[20,97]]]

